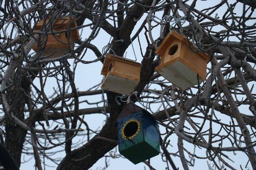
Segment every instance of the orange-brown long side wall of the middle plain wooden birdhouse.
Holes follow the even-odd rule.
[[[140,80],[140,67],[120,61],[114,61],[114,72]]]

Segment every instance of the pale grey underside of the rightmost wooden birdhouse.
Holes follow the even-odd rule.
[[[182,90],[198,84],[198,80],[199,83],[204,81],[194,70],[186,66],[188,64],[184,63],[182,59],[176,58],[156,67],[156,70],[166,80],[172,82],[172,84]]]

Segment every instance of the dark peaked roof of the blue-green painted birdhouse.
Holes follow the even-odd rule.
[[[144,110],[145,113],[147,113],[148,115],[150,115],[151,117],[153,117],[152,114],[150,114],[147,110],[143,109],[142,107],[140,106],[137,106],[136,104],[134,104],[133,102],[130,102],[128,104],[126,104],[124,106],[124,108],[122,109],[120,115],[117,117],[117,120],[120,120],[120,119],[123,119],[124,117],[128,116],[128,115],[131,115],[132,113],[134,112],[137,112],[137,111],[141,111],[141,110]]]

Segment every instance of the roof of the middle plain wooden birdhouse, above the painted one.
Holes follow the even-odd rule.
[[[126,64],[140,67],[140,63],[107,53],[106,58],[103,63],[102,70],[101,70],[102,75],[106,76],[106,74],[108,73],[108,66],[112,61],[119,61],[121,63],[126,63]]]

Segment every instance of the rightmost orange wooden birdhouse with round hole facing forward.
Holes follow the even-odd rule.
[[[161,56],[156,71],[182,90],[206,79],[206,65],[210,57],[191,49],[196,50],[186,37],[172,31],[156,50],[156,54]]]

